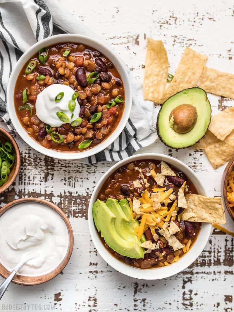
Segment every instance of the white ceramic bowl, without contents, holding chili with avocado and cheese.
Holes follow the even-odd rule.
[[[118,168],[124,166],[125,164],[135,161],[135,160],[141,160],[141,159],[152,159],[152,160],[163,160],[179,170],[181,170],[183,173],[187,175],[187,177],[192,181],[192,183],[197,188],[197,191],[200,195],[206,196],[206,192],[204,187],[202,186],[202,183],[198,180],[197,176],[193,172],[192,169],[190,169],[187,165],[182,163],[180,160],[162,155],[162,154],[139,154],[135,156],[131,156],[128,158],[125,158],[124,160],[119,161],[116,163],[113,167],[111,167],[100,179],[98,184],[96,185],[93,194],[90,198],[89,203],[89,211],[88,211],[88,222],[89,222],[89,230],[90,235],[92,238],[92,241],[95,245],[95,248],[100,253],[102,258],[115,270],[134,277],[139,278],[142,280],[159,280],[162,278],[166,278],[169,276],[172,276],[174,274],[179,273],[180,271],[187,268],[190,264],[192,264],[197,257],[201,254],[202,250],[206,246],[206,243],[208,241],[208,238],[210,236],[211,232],[211,224],[210,223],[202,223],[201,230],[198,234],[197,240],[195,241],[192,249],[188,251],[178,262],[173,263],[170,266],[163,266],[161,268],[152,268],[148,270],[142,270],[138,268],[134,268],[132,266],[128,266],[124,264],[123,262],[117,260],[114,256],[112,256],[104,247],[102,244],[100,237],[98,236],[94,221],[93,221],[93,215],[92,215],[92,207],[94,202],[97,199],[97,195],[100,191],[100,188],[102,187],[103,183],[106,181],[106,179],[109,178],[109,176]]]

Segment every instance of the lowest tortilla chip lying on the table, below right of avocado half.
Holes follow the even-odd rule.
[[[219,141],[205,148],[207,157],[214,169],[225,164],[234,157],[234,130],[224,141]]]

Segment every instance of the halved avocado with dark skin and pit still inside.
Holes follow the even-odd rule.
[[[206,92],[197,87],[185,89],[163,103],[157,118],[158,137],[173,149],[185,149],[203,138],[210,120]]]

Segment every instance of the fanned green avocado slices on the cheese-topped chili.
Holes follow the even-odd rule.
[[[129,222],[117,200],[109,198],[105,204],[98,199],[93,205],[93,218],[110,248],[130,258],[144,257],[144,248],[140,247],[133,223]]]

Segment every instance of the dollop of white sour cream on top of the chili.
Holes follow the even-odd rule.
[[[56,102],[55,97],[59,93],[63,92],[63,98]],[[60,127],[65,122],[60,120],[56,115],[57,112],[63,112],[69,118],[68,123],[79,117],[80,105],[76,101],[76,107],[73,112],[68,108],[68,103],[71,100],[71,96],[75,91],[68,85],[53,84],[46,87],[41,93],[37,95],[36,100],[36,115],[45,124],[49,124],[51,127]],[[73,118],[71,115],[73,113]]]

